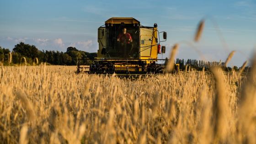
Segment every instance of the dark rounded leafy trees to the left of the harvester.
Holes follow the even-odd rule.
[[[10,55],[11,53],[11,55]],[[66,52],[52,50],[38,50],[35,45],[24,44],[20,42],[15,45],[13,50],[2,48],[0,46],[0,62],[4,65],[20,64],[22,57],[25,57],[27,64],[32,65],[37,58],[38,62],[46,62],[50,65],[76,65],[77,59],[93,60],[97,53],[89,53],[77,50],[75,47],[68,47]]]

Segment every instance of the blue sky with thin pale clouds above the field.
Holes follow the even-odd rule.
[[[73,46],[96,52],[97,29],[111,17],[133,17],[167,32],[166,53],[179,43],[177,58],[225,61],[241,66],[256,47],[256,0],[0,0],[0,46],[19,42],[39,50]],[[193,42],[200,20],[202,39]]]

